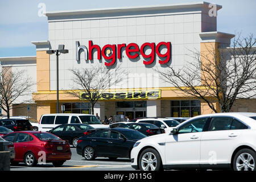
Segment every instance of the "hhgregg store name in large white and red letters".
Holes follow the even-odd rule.
[[[167,51],[165,53],[161,53],[161,49],[166,48]],[[146,54],[146,49],[150,49],[150,53]],[[93,44],[92,40],[89,40],[88,48],[86,46],[80,46],[79,41],[76,41],[76,60],[80,61],[80,53],[84,51],[85,60],[93,60],[93,51],[97,51],[97,59],[101,60],[101,56],[104,57],[105,60],[109,60],[105,62],[107,67],[113,65],[117,59],[122,59],[122,51],[125,50],[125,53],[129,59],[136,59],[139,57],[139,53],[146,60],[143,60],[143,64],[152,64],[155,60],[155,55],[160,57],[159,63],[166,64],[171,60],[171,43],[170,42],[160,42],[158,44],[155,43],[143,43],[141,47],[138,44],[130,43],[130,44],[106,44],[104,47],[98,46],[97,44]]]

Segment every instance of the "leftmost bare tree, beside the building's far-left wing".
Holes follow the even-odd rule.
[[[2,67],[0,73],[0,107],[6,111],[10,118],[10,110],[20,104],[31,102],[32,99],[24,99],[23,96],[31,94],[31,77],[27,77],[24,71],[12,71],[9,67]],[[18,102],[15,103],[15,102]]]

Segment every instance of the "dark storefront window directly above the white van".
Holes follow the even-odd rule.
[[[63,113],[90,114],[89,102],[64,103],[65,111]]]

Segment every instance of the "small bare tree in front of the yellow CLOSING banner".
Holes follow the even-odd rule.
[[[126,74],[120,66],[107,68],[100,65],[92,68],[70,69],[70,71],[73,73],[72,80],[77,85],[73,90],[79,91],[68,93],[75,97],[82,97],[84,101],[89,101],[91,114],[94,114],[94,106],[102,98],[102,93],[119,84]]]

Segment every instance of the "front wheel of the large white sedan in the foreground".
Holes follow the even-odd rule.
[[[147,148],[139,156],[139,168],[141,171],[159,171],[162,169],[162,162],[158,151]]]

